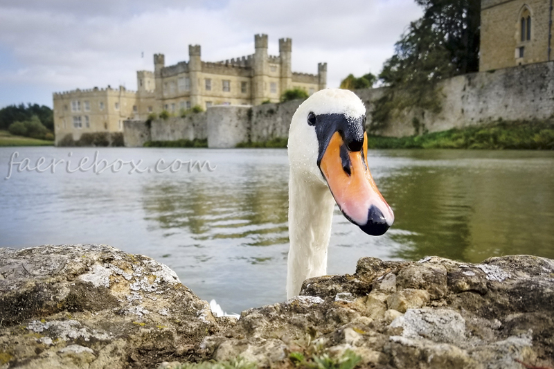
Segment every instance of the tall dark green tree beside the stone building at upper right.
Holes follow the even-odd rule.
[[[415,1],[424,15],[410,24],[379,74],[390,88],[375,102],[370,132],[386,125],[395,111],[438,113],[437,82],[479,70],[481,0]]]

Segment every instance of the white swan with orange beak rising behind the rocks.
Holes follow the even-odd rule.
[[[368,168],[365,123],[364,103],[343,89],[313,93],[292,116],[287,298],[307,278],[326,274],[335,202],[369,235],[384,234],[394,222]]]

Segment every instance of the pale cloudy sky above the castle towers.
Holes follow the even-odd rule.
[[[92,87],[136,90],[136,71],[250,55],[254,35],[292,38],[292,70],[317,73],[328,87],[346,75],[381,71],[394,44],[422,10],[413,0],[0,0],[0,108],[52,107],[52,93]]]

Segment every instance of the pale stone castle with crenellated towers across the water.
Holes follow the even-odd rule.
[[[188,46],[188,62],[165,65],[163,54],[154,55],[154,72],[137,71],[137,91],[93,89],[53,94],[56,144],[67,135],[123,132],[123,121],[146,120],[152,113],[181,111],[198,106],[260,105],[278,102],[287,89],[309,95],[327,84],[327,63],[317,74],[291,70],[292,39],[279,39],[279,55],[268,55],[267,35],[255,35],[253,55],[222,62],[204,62],[199,45]]]

